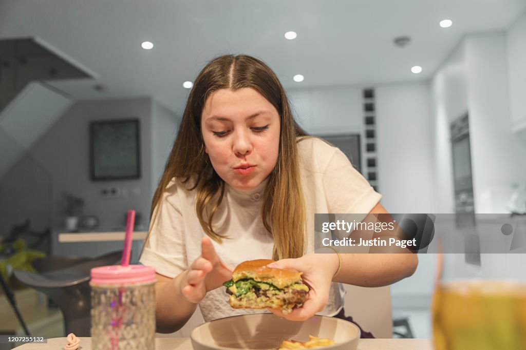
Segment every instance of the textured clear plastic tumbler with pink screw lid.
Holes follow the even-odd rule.
[[[92,349],[155,349],[155,269],[100,266],[91,275]]]

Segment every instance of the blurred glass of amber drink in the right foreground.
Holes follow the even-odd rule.
[[[438,254],[437,350],[526,349],[526,254]]]

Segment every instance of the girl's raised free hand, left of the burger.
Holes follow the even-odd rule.
[[[181,284],[181,293],[191,303],[198,303],[206,293],[232,278],[232,269],[219,259],[210,239],[201,240],[201,255],[194,260]]]

